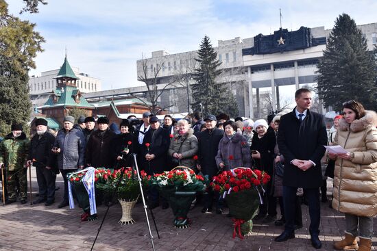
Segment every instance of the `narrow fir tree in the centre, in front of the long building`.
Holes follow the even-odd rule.
[[[195,69],[193,75],[196,83],[191,85],[193,111],[202,111],[203,114],[225,112],[230,116],[237,116],[238,107],[232,92],[226,88],[226,85],[216,82],[216,78],[221,74],[221,70],[218,69],[221,62],[217,60],[217,52],[213,49],[208,36],[204,36],[197,56],[195,60],[199,62],[199,67]]]

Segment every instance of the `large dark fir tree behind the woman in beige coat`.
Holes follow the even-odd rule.
[[[318,64],[318,94],[326,107],[340,111],[349,100],[376,109],[376,60],[367,40],[348,14],[341,14],[331,31]]]

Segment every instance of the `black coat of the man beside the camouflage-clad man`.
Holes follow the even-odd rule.
[[[46,131],[42,135],[37,133],[32,137],[30,141],[28,160],[35,159],[33,165],[37,167],[47,166],[49,156],[52,155],[51,148],[55,142],[55,136]]]

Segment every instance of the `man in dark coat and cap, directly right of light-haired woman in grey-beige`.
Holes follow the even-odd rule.
[[[223,138],[224,131],[216,127],[216,117],[209,114],[204,118],[206,122],[206,130],[198,135],[199,151],[198,151],[198,164],[197,169],[202,171],[204,175],[208,175],[208,179],[219,172],[215,157],[219,150],[219,142]],[[208,194],[204,196],[204,208],[202,213],[210,213],[212,210],[213,191],[210,189]],[[216,208],[221,213],[221,205],[219,204],[219,196],[216,196]]]

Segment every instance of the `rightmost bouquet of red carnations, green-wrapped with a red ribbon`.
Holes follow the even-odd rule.
[[[250,235],[252,217],[261,201],[260,192],[265,192],[263,185],[270,179],[266,172],[250,168],[234,168],[213,177],[210,185],[225,198],[229,213],[234,217],[233,237],[238,234],[243,239],[243,236]]]

